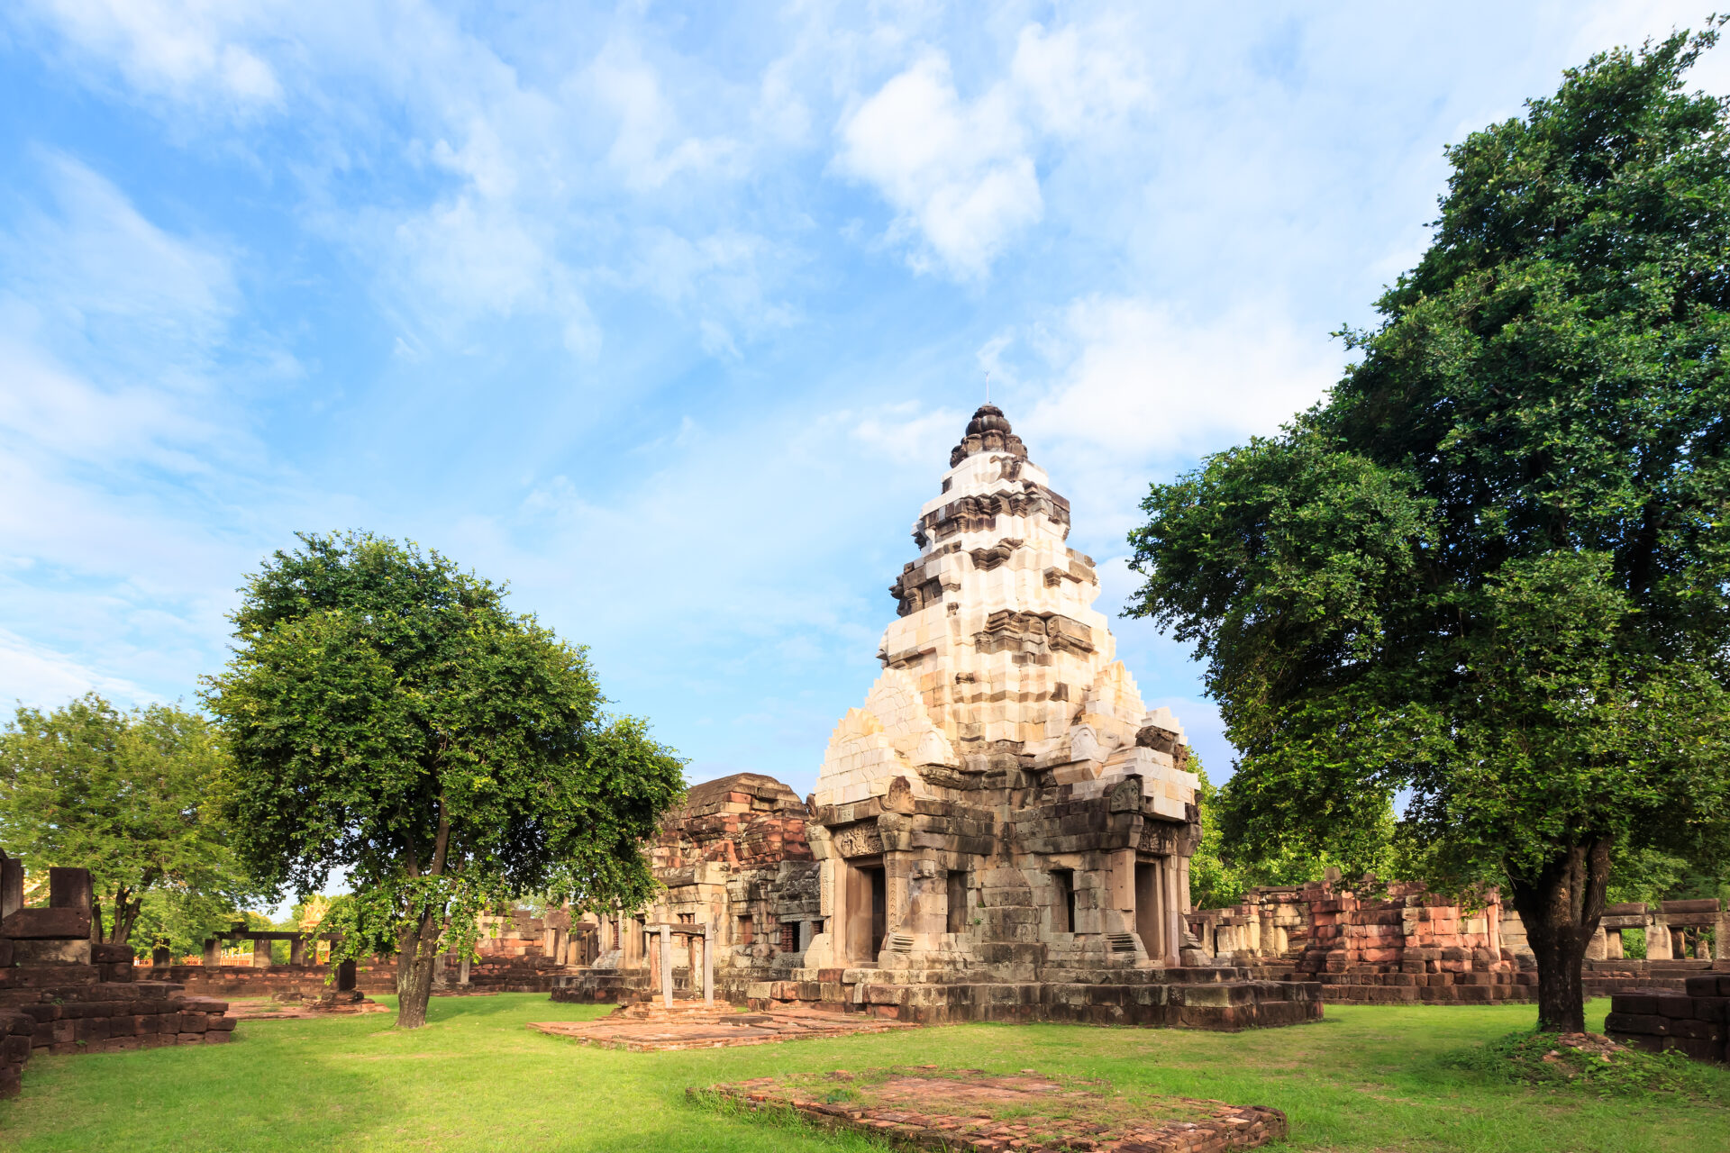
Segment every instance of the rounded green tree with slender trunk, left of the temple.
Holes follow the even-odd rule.
[[[308,536],[270,557],[206,685],[234,745],[235,847],[299,894],[346,870],[341,952],[398,954],[398,1025],[426,1023],[441,947],[516,894],[642,904],[644,844],[683,788],[614,719],[585,650],[436,551]]]

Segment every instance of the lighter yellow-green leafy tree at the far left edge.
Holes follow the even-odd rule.
[[[38,868],[90,870],[104,940],[130,940],[147,904],[232,911],[253,887],[218,812],[225,761],[215,726],[171,705],[119,712],[86,693],[21,707],[0,729],[0,844]]]

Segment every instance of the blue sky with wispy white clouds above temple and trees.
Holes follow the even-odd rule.
[[[242,576],[358,527],[804,792],[986,372],[1114,614],[1147,484],[1323,394],[1441,147],[1704,16],[14,0],[0,700],[190,700]]]

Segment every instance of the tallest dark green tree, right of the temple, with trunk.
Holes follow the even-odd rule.
[[[1275,439],[1154,486],[1130,612],[1194,641],[1251,850],[1370,828],[1503,883],[1583,1027],[1618,852],[1730,818],[1730,135],[1714,31],[1609,52],[1448,149],[1420,264]]]

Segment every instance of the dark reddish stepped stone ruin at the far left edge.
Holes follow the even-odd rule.
[[[0,852],[0,1096],[19,1091],[35,1053],[109,1053],[220,1044],[221,1001],[135,982],[131,946],[92,940],[88,870],[50,868],[48,904],[24,904],[24,866]]]

